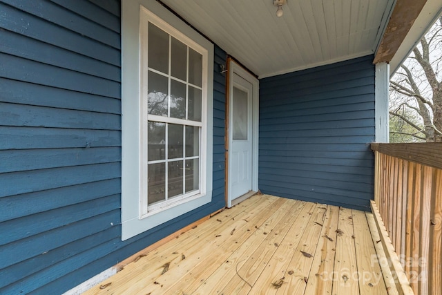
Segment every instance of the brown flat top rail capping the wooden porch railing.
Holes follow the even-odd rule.
[[[373,142],[372,151],[442,169],[442,142],[410,144],[381,144]]]

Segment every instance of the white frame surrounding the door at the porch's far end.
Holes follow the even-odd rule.
[[[240,64],[236,63],[231,57],[227,58],[227,86],[226,86],[226,134],[224,136],[226,152],[225,152],[225,200],[228,208],[234,204],[244,200],[242,196],[233,200],[231,198],[231,187],[229,186],[229,146],[231,144],[230,136],[230,106],[231,95],[233,93],[233,74],[236,73],[247,82],[252,84],[252,97],[251,97],[251,113],[252,113],[252,147],[251,147],[251,191],[252,193],[246,193],[244,198],[248,198],[254,192],[258,191],[258,127],[259,127],[259,81],[248,70],[244,69]]]

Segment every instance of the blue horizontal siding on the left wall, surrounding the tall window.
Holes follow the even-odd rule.
[[[224,207],[215,47],[213,201],[121,240],[117,0],[0,1],[0,294],[57,294]]]

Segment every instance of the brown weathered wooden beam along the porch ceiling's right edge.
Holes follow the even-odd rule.
[[[373,64],[390,62],[427,0],[398,0],[381,39]]]

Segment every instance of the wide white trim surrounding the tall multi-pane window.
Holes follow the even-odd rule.
[[[140,124],[140,12],[148,10],[168,23],[177,32],[186,35],[208,51],[207,67],[203,68],[206,80],[206,105],[202,106],[202,122],[206,122],[204,142],[205,170],[200,171],[202,193],[169,204],[155,213],[140,218],[142,200],[142,128]],[[204,63],[203,63],[204,64]],[[203,99],[204,101],[204,99]],[[204,108],[205,107],[205,108]],[[211,202],[213,177],[213,44],[202,37],[184,21],[173,15],[155,0],[122,1],[122,240],[172,220],[184,213]],[[204,173],[204,175],[203,175]],[[204,191],[203,191],[204,189]],[[204,193],[203,193],[204,192]]]

